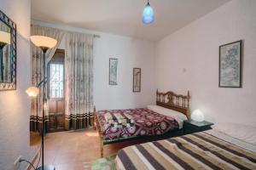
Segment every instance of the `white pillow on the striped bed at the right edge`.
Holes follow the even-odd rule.
[[[218,122],[213,129],[249,144],[256,145],[256,127],[232,122]]]

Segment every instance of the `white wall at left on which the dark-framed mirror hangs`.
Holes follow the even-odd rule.
[[[17,90],[0,92],[0,169],[13,169],[18,156],[31,160],[30,101],[25,90],[30,84],[30,0],[0,0],[0,9],[17,24]],[[20,169],[25,169],[22,163]]]

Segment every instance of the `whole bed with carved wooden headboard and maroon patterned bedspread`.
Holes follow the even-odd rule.
[[[156,92],[156,105],[148,108],[128,110],[94,111],[94,127],[101,138],[101,156],[103,145],[123,142],[130,139],[165,139],[182,133],[181,125],[172,111],[181,113],[180,116],[189,116],[189,92],[186,95],[175,94],[172,91],[166,93]],[[95,109],[96,110],[96,109]],[[171,116],[168,115],[171,112]],[[124,117],[132,117],[121,124],[113,124],[108,116],[116,114]],[[108,116],[107,116],[108,115]],[[128,116],[127,116],[128,115]]]

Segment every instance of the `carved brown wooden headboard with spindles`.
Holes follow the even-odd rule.
[[[189,91],[187,95],[175,94],[171,91],[166,93],[156,90],[156,105],[179,111],[189,117]]]

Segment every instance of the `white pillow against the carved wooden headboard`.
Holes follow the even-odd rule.
[[[177,121],[179,128],[183,127],[183,121],[188,120],[187,116],[185,116],[183,113],[166,109],[165,107],[161,107],[159,105],[148,105],[147,108],[162,115],[173,117]]]

